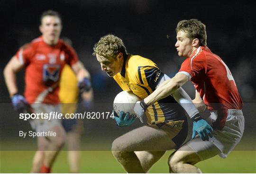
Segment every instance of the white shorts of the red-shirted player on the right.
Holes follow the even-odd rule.
[[[213,111],[206,121],[211,124],[217,119],[217,111]],[[226,158],[241,140],[245,127],[245,119],[241,110],[229,109],[225,126],[222,130],[214,130],[209,141],[203,141],[199,136],[186,144],[195,152],[207,151],[214,144],[220,151],[219,156]],[[211,153],[210,150],[209,154]],[[200,157],[204,160],[205,157]]]

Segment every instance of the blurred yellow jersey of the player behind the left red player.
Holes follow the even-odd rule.
[[[62,113],[75,113],[79,89],[77,78],[69,65],[65,65],[60,78],[59,98],[62,103]]]

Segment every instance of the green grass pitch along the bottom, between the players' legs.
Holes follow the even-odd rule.
[[[198,166],[203,173],[256,173],[256,146],[252,136],[245,136],[225,159],[219,156],[202,161]],[[17,143],[18,142],[18,143]],[[126,173],[110,151],[110,139],[83,139],[81,151],[81,173]],[[36,148],[36,140],[21,141],[4,139],[0,141],[0,173],[29,173]],[[86,149],[85,149],[86,148]],[[23,149],[14,151],[13,149]],[[31,151],[26,151],[30,149]],[[64,149],[66,149],[64,147]],[[91,151],[90,151],[90,150]],[[101,151],[97,151],[101,149]],[[13,151],[11,151],[13,150]],[[87,150],[87,151],[85,151]],[[93,151],[92,151],[93,150]],[[242,151],[243,150],[243,151]],[[168,173],[167,160],[173,151],[165,155],[150,169],[149,173]],[[53,173],[69,173],[67,151],[61,151],[53,166]]]

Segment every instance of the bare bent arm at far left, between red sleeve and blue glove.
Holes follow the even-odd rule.
[[[23,64],[18,61],[16,56],[13,56],[8,64],[4,68],[4,79],[9,91],[9,95],[12,97],[18,93],[18,87],[16,82],[16,73],[23,68]]]

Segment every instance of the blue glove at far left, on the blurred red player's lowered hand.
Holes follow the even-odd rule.
[[[23,112],[30,107],[24,96],[19,94],[14,94],[11,98],[11,102],[15,111]]]

